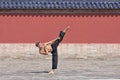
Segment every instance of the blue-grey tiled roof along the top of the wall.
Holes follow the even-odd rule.
[[[0,0],[0,9],[120,9],[120,0]]]

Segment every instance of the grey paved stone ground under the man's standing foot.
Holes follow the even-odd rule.
[[[0,80],[120,79],[120,58],[60,59],[50,75],[51,59],[0,60]]]

